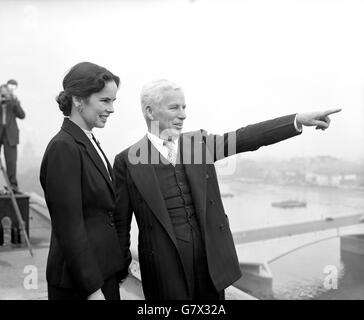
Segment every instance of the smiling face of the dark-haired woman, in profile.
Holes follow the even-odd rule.
[[[93,93],[88,99],[82,100],[79,113],[81,127],[86,130],[105,127],[107,118],[114,112],[113,103],[116,100],[118,87],[114,81],[107,82],[105,87]]]

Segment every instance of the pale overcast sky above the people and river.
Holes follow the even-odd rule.
[[[167,78],[185,91],[185,131],[223,133],[273,117],[342,107],[322,132],[247,157],[364,158],[363,1],[0,1],[0,82],[27,113],[20,152],[59,130],[54,100],[75,63],[121,78],[115,113],[95,130],[110,160],[146,130],[139,92]],[[22,155],[21,155],[22,156]]]

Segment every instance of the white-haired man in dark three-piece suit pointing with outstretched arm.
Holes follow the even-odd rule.
[[[224,135],[182,133],[186,102],[180,86],[157,80],[141,92],[148,132],[115,157],[115,224],[125,261],[130,225],[139,228],[138,255],[146,299],[222,300],[241,277],[214,162],[301,134],[327,129],[325,112],[292,114]]]

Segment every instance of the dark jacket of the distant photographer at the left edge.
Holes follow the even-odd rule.
[[[16,118],[24,119],[25,112],[17,98],[12,97],[6,102],[6,123],[3,125],[3,112],[0,106],[0,133],[5,130],[6,137],[10,146],[16,146],[19,143],[19,128]]]

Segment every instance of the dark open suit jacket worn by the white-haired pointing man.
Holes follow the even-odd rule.
[[[184,163],[190,163],[184,164],[185,171],[205,243],[210,276],[218,291],[238,280],[241,271],[221,200],[214,162],[299,134],[294,128],[294,117],[280,117],[232,132],[236,137],[233,150],[228,148],[228,134],[209,135],[200,130],[180,137],[180,148],[184,148],[183,157],[192,160],[182,159]],[[185,143],[186,140],[192,143]],[[202,156],[196,154],[199,146]],[[188,299],[183,261],[151,164],[153,156],[149,156],[147,164],[135,164],[145,150],[151,154],[156,151],[146,136],[115,158],[118,213],[115,222],[122,235],[123,255],[129,250],[130,223],[134,212],[139,228],[138,254],[146,299]]]

